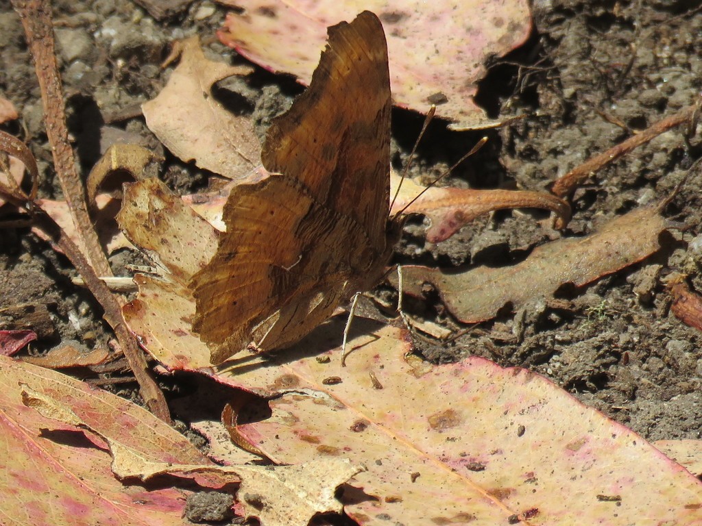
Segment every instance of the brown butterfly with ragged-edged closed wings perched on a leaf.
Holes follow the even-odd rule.
[[[383,277],[402,226],[388,217],[391,106],[380,20],[330,27],[310,88],[265,137],[272,175],[232,191],[216,255],[192,278],[212,363],[297,342]]]

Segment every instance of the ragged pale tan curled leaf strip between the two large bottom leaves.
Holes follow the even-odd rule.
[[[50,395],[21,384],[22,402],[48,419],[87,428],[100,435],[112,453],[112,471],[120,480],[137,478],[143,482],[159,475],[190,478],[206,476],[211,484],[224,486],[237,482],[237,495],[246,517],[256,517],[263,526],[306,526],[317,513],[341,511],[334,497],[336,487],[362,471],[347,459],[317,459],[302,466],[217,466],[209,461],[178,464],[163,461],[143,448],[103,435],[72,407]]]

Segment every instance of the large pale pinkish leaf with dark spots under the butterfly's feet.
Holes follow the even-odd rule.
[[[432,367],[390,327],[350,345],[346,367],[317,334],[237,355],[220,379],[274,396],[238,429],[276,461],[367,466],[344,493],[359,524],[702,523],[699,480],[543,377],[482,358]]]

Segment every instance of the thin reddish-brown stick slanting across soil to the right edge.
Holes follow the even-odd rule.
[[[658,137],[658,135],[670,130],[670,128],[675,128],[675,126],[680,126],[681,124],[689,122],[697,111],[697,107],[698,104],[691,104],[691,106],[685,107],[669,117],[665,117],[665,119],[658,121],[646,130],[643,130],[642,132],[629,137],[627,140],[620,142],[615,147],[602,152],[602,154],[598,154],[591,159],[588,159],[588,161],[585,161],[577,168],[569,171],[569,173],[561,177],[559,180],[556,180],[551,187],[551,191],[559,197],[567,196],[578,186],[578,184],[581,184],[588,177],[590,177],[590,175],[596,173],[598,170],[601,170],[604,166],[607,166],[607,164],[611,163],[615,159],[619,159],[624,154],[628,154],[636,147],[649,142],[655,137]]]

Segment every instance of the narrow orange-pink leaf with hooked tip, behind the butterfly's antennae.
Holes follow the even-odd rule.
[[[390,195],[395,195],[400,177],[390,175]],[[570,217],[568,203],[546,192],[525,190],[471,190],[462,188],[425,187],[405,179],[390,213],[422,214],[431,221],[427,241],[439,243],[482,214],[506,208],[543,208],[558,216],[557,228],[563,228]],[[421,194],[421,192],[423,192]],[[421,194],[416,201],[416,196]],[[409,203],[411,205],[407,206]],[[407,208],[405,208],[407,207]]]

